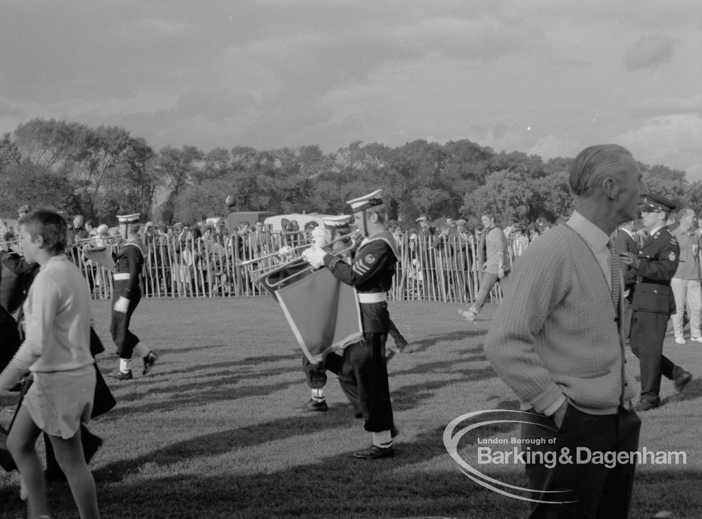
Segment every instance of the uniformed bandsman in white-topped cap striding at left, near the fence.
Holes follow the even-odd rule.
[[[131,316],[141,299],[139,277],[146,254],[144,244],[139,237],[139,213],[117,216],[117,219],[126,242],[119,249],[117,261],[115,261],[110,333],[119,355],[119,371],[116,378],[131,380],[133,379],[131,360],[134,354],[143,359],[143,374],[147,374],[154,366],[158,355],[129,331]]]

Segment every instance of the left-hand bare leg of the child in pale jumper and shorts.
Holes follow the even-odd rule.
[[[17,412],[7,438],[7,447],[12,454],[18,471],[22,475],[22,482],[27,490],[27,517],[37,518],[40,515],[48,516],[46,505],[46,488],[44,487],[44,469],[41,459],[34,445],[41,430],[29,416],[27,408],[22,406]]]

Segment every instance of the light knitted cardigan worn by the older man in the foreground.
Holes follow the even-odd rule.
[[[512,270],[484,347],[522,409],[544,412],[561,395],[590,414],[614,414],[630,402],[635,391],[609,285],[580,235],[552,228]]]

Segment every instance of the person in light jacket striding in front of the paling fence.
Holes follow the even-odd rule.
[[[486,211],[481,217],[482,224],[487,231],[485,236],[486,261],[482,265],[484,275],[475,301],[468,308],[458,308],[458,313],[463,315],[468,322],[475,321],[495,284],[505,279],[510,273],[510,258],[508,256],[507,237],[502,229],[495,225],[495,214]]]

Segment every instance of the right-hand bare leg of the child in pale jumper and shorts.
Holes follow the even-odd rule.
[[[49,435],[51,445],[56,454],[56,461],[68,480],[73,500],[76,502],[81,519],[98,519],[98,493],[95,490],[95,480],[86,464],[81,445],[80,429],[73,438],[64,440],[58,436]]]

